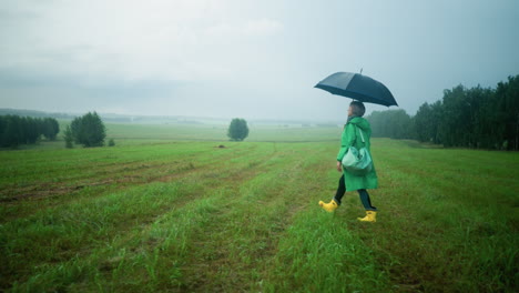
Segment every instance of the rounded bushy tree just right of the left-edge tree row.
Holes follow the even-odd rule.
[[[106,129],[95,112],[89,112],[75,118],[70,124],[70,130],[75,143],[83,144],[85,148],[102,146],[104,144]]]

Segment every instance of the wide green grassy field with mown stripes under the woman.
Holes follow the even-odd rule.
[[[317,205],[339,133],[114,124],[113,148],[1,151],[0,291],[518,291],[519,153],[374,139],[360,223],[356,193]]]

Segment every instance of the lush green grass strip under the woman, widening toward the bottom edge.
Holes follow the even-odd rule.
[[[369,229],[356,220],[364,213],[358,208],[358,195],[346,194],[337,213],[327,213],[317,204],[319,200],[333,198],[340,176],[335,170],[336,143],[323,146],[323,153],[315,158],[318,164],[301,179],[313,184],[309,192],[301,193],[305,196],[298,200],[304,204],[279,238],[260,291],[390,292],[388,276],[380,270],[373,251],[350,232],[353,225]]]

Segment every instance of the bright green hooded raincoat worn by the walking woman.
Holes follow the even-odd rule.
[[[343,137],[340,139],[340,150],[337,154],[337,161],[342,162],[344,155],[347,153],[349,146],[360,149],[364,146],[363,140],[358,134],[359,128],[363,131],[366,148],[370,151],[369,138],[372,137],[372,127],[369,122],[360,117],[355,117],[346,123],[343,130]],[[373,158],[373,155],[372,155]],[[378,186],[377,172],[375,171],[375,164],[373,170],[365,175],[354,175],[343,169],[344,181],[346,183],[346,191],[355,191],[360,189],[376,189]]]

